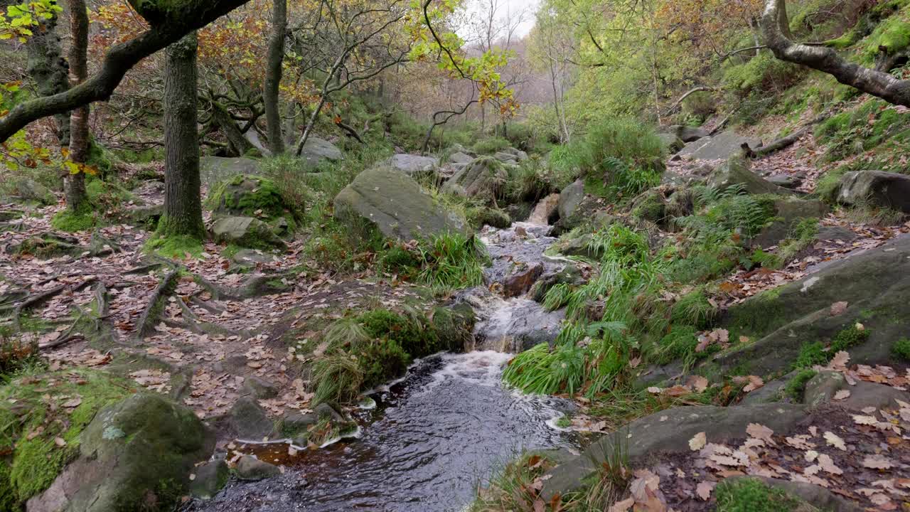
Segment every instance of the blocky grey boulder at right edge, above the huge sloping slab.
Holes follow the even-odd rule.
[[[910,213],[910,176],[881,170],[856,170],[844,174],[837,202],[871,204]]]

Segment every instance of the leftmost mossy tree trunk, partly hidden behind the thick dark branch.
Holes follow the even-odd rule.
[[[69,64],[63,57],[63,46],[56,33],[54,15],[35,30],[25,42],[28,54],[26,73],[35,80],[39,96],[53,96],[69,88]],[[57,140],[61,148],[69,146],[69,114],[57,114]]]

